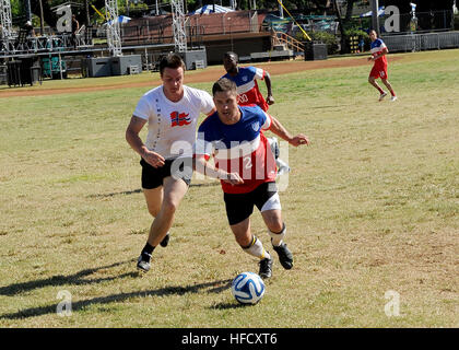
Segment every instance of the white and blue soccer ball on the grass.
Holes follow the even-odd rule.
[[[257,273],[243,272],[233,280],[231,292],[242,304],[257,304],[264,295],[264,282]]]

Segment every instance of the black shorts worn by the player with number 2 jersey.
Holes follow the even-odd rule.
[[[264,210],[281,209],[278,187],[274,182],[263,183],[248,194],[224,194],[223,199],[225,200],[229,225],[239,223],[250,217],[254,212],[254,206],[257,206],[260,211],[262,211],[264,205],[268,205]]]

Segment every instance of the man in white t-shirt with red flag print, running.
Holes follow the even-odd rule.
[[[184,85],[185,63],[178,55],[161,60],[160,74],[163,84],[140,98],[126,130],[126,140],[141,156],[142,189],[154,217],[137,264],[145,272],[154,248],[167,246],[175,211],[188,190],[199,115],[216,110],[209,93]],[[143,143],[139,132],[145,124]]]

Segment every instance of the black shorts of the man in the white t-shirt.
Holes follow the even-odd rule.
[[[143,158],[140,160],[142,165],[142,188],[153,189],[163,186],[163,179],[167,176],[181,178],[188,186],[192,176],[192,159],[181,158],[179,160],[166,160],[162,167],[153,167]]]

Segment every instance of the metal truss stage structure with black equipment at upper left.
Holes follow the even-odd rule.
[[[105,0],[106,46],[94,46],[92,27],[86,27],[87,23],[81,25],[76,33],[71,33],[74,5],[72,2],[51,9],[58,15],[57,34],[47,35],[42,31],[42,35],[31,36],[25,28],[13,27],[10,1],[0,0],[0,84],[5,81],[5,75],[10,86],[24,85],[40,81],[43,77],[62,79],[67,77],[68,71],[76,69],[81,70],[83,77],[139,73],[143,67],[150,67],[149,61],[173,50],[183,57],[187,69],[207,67],[205,47],[188,48],[184,0],[169,0],[173,20],[172,43],[136,46],[125,44],[125,47],[120,27],[123,19],[118,14],[117,0]],[[139,55],[143,50],[145,65],[142,62],[142,54]],[[148,50],[155,51],[155,58],[152,56],[149,60]],[[131,54],[123,55],[123,51]],[[72,67],[75,61],[81,62],[80,67]]]

